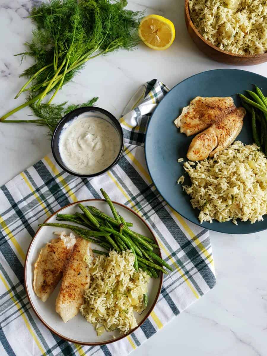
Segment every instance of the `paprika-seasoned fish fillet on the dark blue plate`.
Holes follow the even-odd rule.
[[[246,110],[236,108],[230,96],[193,99],[174,121],[185,135],[198,133],[189,146],[187,158],[201,161],[228,147],[239,135],[245,114]]]

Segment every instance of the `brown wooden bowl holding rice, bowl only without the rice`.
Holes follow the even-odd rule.
[[[251,55],[235,54],[223,51],[209,41],[206,41],[205,38],[203,38],[197,31],[190,18],[188,0],[185,0],[184,17],[187,31],[192,40],[195,42],[200,51],[206,54],[206,56],[214,59],[214,61],[234,64],[235,66],[253,66],[255,64],[267,62],[267,53]]]

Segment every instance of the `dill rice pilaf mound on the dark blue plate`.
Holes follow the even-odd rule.
[[[199,220],[212,223],[236,219],[252,223],[267,214],[267,159],[258,147],[241,141],[206,158],[196,166],[184,163],[192,185],[183,185],[191,196]]]

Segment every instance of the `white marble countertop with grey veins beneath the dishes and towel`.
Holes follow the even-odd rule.
[[[15,53],[31,36],[29,8],[35,0],[0,1],[0,114],[23,99],[13,100],[23,83]],[[140,3],[141,2],[141,3]],[[140,45],[136,51],[111,54],[91,61],[57,95],[56,101],[79,103],[92,96],[98,105],[119,117],[138,86],[157,78],[170,88],[204,70],[234,68],[206,58],[190,40],[184,24],[183,0],[134,0],[129,7],[168,17],[176,27],[176,40],[167,51]],[[239,69],[267,76],[267,63]],[[27,117],[23,109],[14,118]],[[44,127],[0,124],[0,185],[31,166],[50,151]],[[267,238],[266,233],[233,236],[212,232],[217,285],[133,352],[141,355],[254,356],[267,354]]]

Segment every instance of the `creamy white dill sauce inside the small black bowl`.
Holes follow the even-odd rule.
[[[120,137],[108,121],[85,112],[64,125],[59,153],[79,174],[94,174],[110,166],[120,151]]]

